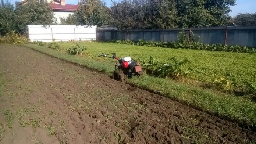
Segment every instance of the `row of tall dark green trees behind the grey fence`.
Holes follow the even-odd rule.
[[[232,24],[235,0],[121,0],[111,6],[112,25],[120,30],[171,29]]]

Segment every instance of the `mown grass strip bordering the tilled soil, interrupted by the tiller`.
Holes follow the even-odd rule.
[[[91,58],[68,55],[35,44],[27,44],[25,47],[105,73],[111,73],[114,70],[113,65]],[[253,128],[255,127],[256,104],[242,97],[217,94],[189,84],[181,84],[173,80],[154,78],[148,75],[139,78],[133,77],[128,79],[128,83],[185,102],[209,114],[214,114]]]

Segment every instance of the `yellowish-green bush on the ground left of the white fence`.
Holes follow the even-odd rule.
[[[0,37],[0,44],[27,44],[29,39],[26,36],[11,31],[8,35]]]

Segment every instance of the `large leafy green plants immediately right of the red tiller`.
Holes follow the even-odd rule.
[[[155,58],[150,57],[149,60],[142,62],[142,68],[146,69],[148,74],[161,77],[161,78],[172,78],[178,80],[188,75],[188,71],[183,68],[184,64],[188,64],[188,60],[178,61],[177,59],[170,58],[171,63],[163,63],[156,61]]]

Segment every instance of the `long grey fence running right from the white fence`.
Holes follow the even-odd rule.
[[[178,38],[182,29],[164,29],[164,30],[129,30],[120,31],[113,27],[96,28],[96,39],[100,41],[126,40],[137,41],[144,39],[146,41],[173,42]],[[202,43],[205,44],[228,44],[256,47],[256,27],[209,27],[209,28],[187,28],[186,32],[192,32],[196,36],[201,36]]]

